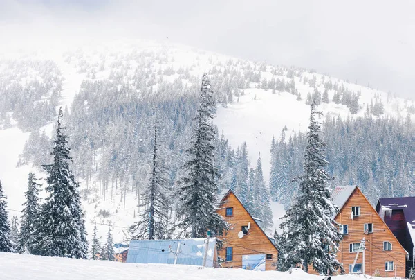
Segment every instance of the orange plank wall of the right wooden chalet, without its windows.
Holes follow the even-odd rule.
[[[351,207],[353,206],[360,206],[360,216],[355,216],[352,220]],[[365,237],[367,240],[365,246],[365,273],[374,275],[378,272],[381,277],[394,277],[394,271],[385,271],[385,262],[394,261],[396,276],[405,277],[405,250],[360,189],[353,192],[335,220],[349,227],[349,234],[343,236],[340,252],[338,252],[338,259],[343,263],[346,273],[349,273],[349,264],[353,264],[356,257],[356,253],[349,252],[349,244],[360,243],[360,240]],[[373,234],[364,234],[365,223],[373,223]],[[383,241],[389,241],[392,244],[391,251],[383,251]],[[356,263],[362,263],[362,253],[359,254]]]

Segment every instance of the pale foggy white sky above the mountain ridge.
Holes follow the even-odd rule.
[[[142,37],[415,98],[415,1],[0,0],[0,44]]]

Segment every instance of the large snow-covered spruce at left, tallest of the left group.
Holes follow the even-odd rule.
[[[34,253],[42,256],[86,258],[88,243],[82,213],[79,184],[69,163],[68,136],[62,127],[62,109],[59,109],[56,138],[53,146],[53,164],[44,165],[48,173],[48,197],[36,221]]]

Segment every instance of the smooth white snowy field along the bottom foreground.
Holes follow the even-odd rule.
[[[367,277],[369,278],[369,277]],[[301,270],[288,272],[257,272],[242,269],[205,268],[189,265],[158,265],[115,263],[64,258],[48,258],[21,254],[0,253],[0,279],[8,280],[93,280],[93,279],[151,279],[151,280],[207,280],[207,279],[284,279],[317,280],[321,276]],[[362,275],[333,277],[335,280],[365,279]],[[373,279],[385,279],[377,278]],[[389,278],[391,279],[391,278]]]

